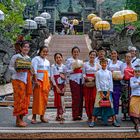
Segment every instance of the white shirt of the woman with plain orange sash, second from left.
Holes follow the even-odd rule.
[[[36,56],[32,59],[32,66],[34,68],[37,79],[43,80],[44,73],[38,73],[37,70],[47,70],[50,76],[50,62],[45,58]]]

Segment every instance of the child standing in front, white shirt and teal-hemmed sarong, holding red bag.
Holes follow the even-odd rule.
[[[101,69],[96,73],[96,88],[97,94],[95,99],[95,105],[93,109],[93,118],[92,122],[89,124],[89,127],[95,126],[95,120],[97,116],[101,116],[104,125],[107,125],[107,120],[109,117],[113,117],[113,125],[119,127],[120,125],[117,123],[115,119],[115,113],[113,110],[113,104],[110,97],[110,92],[113,92],[113,81],[112,81],[112,73],[106,69],[107,67],[107,59],[100,60]],[[101,100],[110,101],[110,106],[102,107],[100,105]]]

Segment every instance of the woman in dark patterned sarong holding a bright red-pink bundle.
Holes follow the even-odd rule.
[[[126,120],[127,113],[129,112],[129,99],[131,95],[130,78],[134,76],[134,69],[132,67],[131,59],[131,53],[126,53],[125,63],[122,64],[123,81],[121,83],[123,87],[121,93],[121,101],[122,113],[124,114],[122,120]]]

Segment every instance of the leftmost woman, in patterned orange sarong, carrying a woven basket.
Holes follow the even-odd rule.
[[[12,73],[12,85],[14,90],[14,111],[16,116],[16,126],[25,127],[27,123],[23,121],[23,117],[28,114],[28,107],[30,103],[30,95],[32,94],[32,80],[31,80],[31,59],[28,56],[30,50],[29,43],[24,41],[20,46],[20,53],[11,58],[9,69]],[[24,64],[18,64],[17,60],[27,61],[30,63],[28,69]]]

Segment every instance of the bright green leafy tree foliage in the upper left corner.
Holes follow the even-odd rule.
[[[22,32],[24,6],[20,0],[5,0],[0,3],[0,9],[5,14],[5,19],[0,21],[1,34],[12,43],[16,41],[17,35]]]

